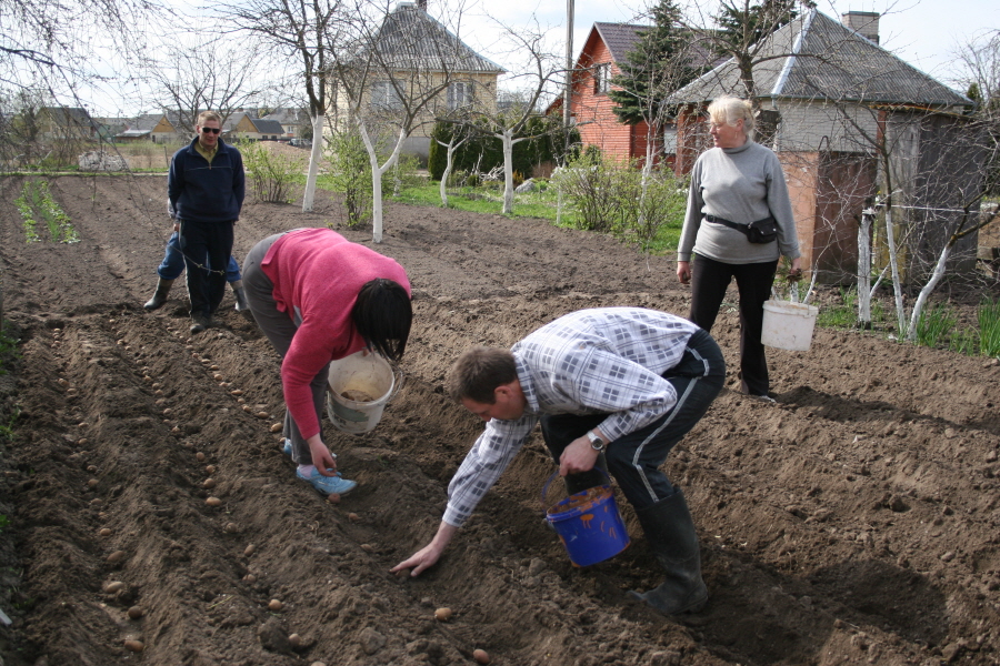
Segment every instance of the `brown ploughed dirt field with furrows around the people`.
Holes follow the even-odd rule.
[[[570,564],[543,524],[553,466],[538,433],[442,561],[398,578],[482,427],[442,396],[453,357],[581,307],[686,314],[668,259],[390,204],[378,249],[414,286],[408,379],[374,432],[327,424],[361,484],[332,505],[278,448],[278,357],[231,295],[224,326],[194,337],[182,289],[142,310],[168,236],[164,176],[54,179],[73,245],[26,244],[21,185],[0,180],[4,315],[23,354],[0,377],[0,425],[20,408],[0,450],[6,666],[443,666],[476,648],[517,666],[1000,662],[994,360],[819,330],[808,353],[770,352],[777,404],[724,391],[667,463],[701,539],[711,597],[697,615],[629,601],[659,574],[626,505],[632,545]],[[236,253],[339,219],[327,195],[310,214],[249,202]],[[730,364],[737,329],[724,307],[713,333]]]

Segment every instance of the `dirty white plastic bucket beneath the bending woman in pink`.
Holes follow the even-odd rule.
[[[367,433],[379,424],[386,403],[396,393],[392,366],[378,354],[351,354],[330,363],[327,416],[346,433]],[[371,400],[352,400],[358,396]]]

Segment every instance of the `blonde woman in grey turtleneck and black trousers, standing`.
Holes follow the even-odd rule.
[[[791,260],[792,278],[801,273],[788,185],[778,157],[753,142],[750,102],[719,98],[709,104],[708,113],[714,148],[698,158],[691,172],[677,276],[682,284],[691,284],[689,319],[706,331],[716,323],[726,290],[736,278],[741,387],[743,393],[773,402],[768,395],[768,364],[760,342],[763,303],[781,255]],[[750,242],[748,225],[771,220],[776,238]]]

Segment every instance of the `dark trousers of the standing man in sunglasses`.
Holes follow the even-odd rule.
[[[210,315],[226,295],[226,270],[232,255],[232,222],[180,223],[179,244],[184,254],[191,316]],[[209,266],[220,266],[213,271]]]

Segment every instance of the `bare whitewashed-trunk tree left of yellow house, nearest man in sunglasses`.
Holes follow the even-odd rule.
[[[311,211],[322,158],[324,117],[330,103],[324,77],[349,20],[344,3],[341,0],[313,0],[276,4],[269,0],[240,0],[223,2],[217,10],[227,31],[249,33],[269,46],[274,57],[298,62],[301,68],[299,83],[309,100],[313,138],[302,211]]]

